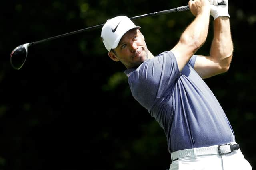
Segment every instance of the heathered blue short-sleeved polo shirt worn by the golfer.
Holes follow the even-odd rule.
[[[166,51],[125,70],[133,97],[158,121],[169,152],[235,141],[218,100],[194,70],[196,55],[180,72],[174,54]]]

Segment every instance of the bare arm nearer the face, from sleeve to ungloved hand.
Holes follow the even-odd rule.
[[[207,3],[209,2],[189,1],[190,11],[196,18],[182,33],[176,46],[171,49],[176,57],[179,70],[183,69],[192,55],[196,53],[206,41],[210,20],[210,6]]]

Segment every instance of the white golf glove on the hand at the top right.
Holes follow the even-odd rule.
[[[220,2],[224,1],[226,5],[218,5]],[[214,20],[219,16],[227,16],[228,14],[228,0],[209,0],[211,5],[210,15],[213,16]]]

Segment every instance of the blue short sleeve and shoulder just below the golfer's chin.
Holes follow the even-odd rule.
[[[130,74],[128,82],[134,98],[150,109],[156,98],[169,95],[179,76],[176,58],[168,51],[142,63]]]

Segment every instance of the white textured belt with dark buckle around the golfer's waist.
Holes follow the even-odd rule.
[[[176,152],[172,152],[171,158],[172,161],[178,158],[184,158],[188,156],[202,156],[202,155],[213,155],[213,154],[227,154],[231,153],[234,150],[238,150],[239,144],[237,143],[227,143],[224,145],[214,145],[210,147],[202,147],[202,148],[192,148],[192,149],[184,149],[178,150]]]

